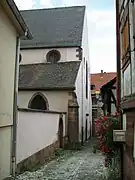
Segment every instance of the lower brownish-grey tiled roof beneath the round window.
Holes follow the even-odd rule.
[[[74,89],[79,61],[20,65],[19,90]]]

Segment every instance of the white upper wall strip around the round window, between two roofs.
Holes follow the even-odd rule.
[[[61,59],[59,62],[65,61],[76,61],[77,48],[55,48],[61,54]],[[34,63],[46,63],[46,55],[49,51],[53,49],[27,49],[21,50],[22,61],[21,64],[34,64]]]

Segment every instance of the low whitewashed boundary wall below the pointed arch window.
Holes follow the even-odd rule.
[[[60,114],[18,112],[17,163],[58,140],[59,119]]]

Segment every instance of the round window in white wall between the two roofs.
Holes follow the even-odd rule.
[[[61,55],[60,55],[60,52],[57,51],[57,50],[51,50],[47,53],[47,62],[50,62],[50,63],[57,63],[60,58],[61,58]]]

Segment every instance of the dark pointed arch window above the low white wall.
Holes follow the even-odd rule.
[[[36,93],[31,98],[28,108],[30,109],[39,109],[39,110],[48,110],[49,105],[46,97],[41,93]]]

